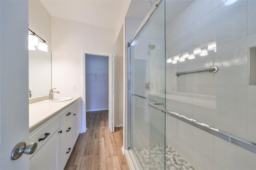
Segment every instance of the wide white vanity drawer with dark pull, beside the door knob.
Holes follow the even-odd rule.
[[[50,137],[54,134],[54,132],[56,132],[56,130],[58,130],[59,127],[60,127],[60,117],[57,116],[52,121],[50,121],[49,123],[44,125],[39,130],[36,130],[31,136],[29,136],[30,143],[37,142],[37,149],[36,150],[39,150],[42,147],[42,145],[48,139],[50,139]],[[30,155],[30,157],[32,155]]]

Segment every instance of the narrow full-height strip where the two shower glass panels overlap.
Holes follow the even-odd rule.
[[[158,2],[152,1],[151,6]],[[165,109],[165,2],[162,1],[156,10],[152,10],[149,19],[149,78],[151,88],[148,90],[148,101],[151,105],[157,105]],[[150,140],[149,140],[149,169],[165,169],[165,114],[152,107],[150,115]]]

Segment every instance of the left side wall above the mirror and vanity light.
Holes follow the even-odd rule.
[[[39,0],[28,1],[28,27],[46,41],[48,50],[51,51],[51,16]]]

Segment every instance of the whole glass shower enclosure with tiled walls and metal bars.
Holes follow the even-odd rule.
[[[256,169],[256,1],[150,1],[129,44],[136,169]]]

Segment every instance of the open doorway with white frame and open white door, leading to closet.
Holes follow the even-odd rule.
[[[112,54],[96,52],[83,55],[84,112],[108,111],[111,133],[114,132],[114,58]]]

